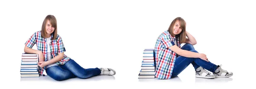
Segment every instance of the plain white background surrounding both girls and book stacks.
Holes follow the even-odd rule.
[[[29,88],[38,88],[38,83],[54,88],[111,89],[253,86],[255,8],[255,3],[247,0],[1,0],[1,81],[4,86],[22,89],[30,83],[33,85]],[[115,80],[67,84],[21,82],[20,56],[24,43],[34,32],[41,30],[48,14],[57,19],[65,55],[84,68],[115,69]],[[197,40],[195,49],[206,54],[212,63],[222,64],[223,69],[233,72],[233,80],[198,84],[195,71],[189,65],[179,75],[182,82],[140,82],[138,74],[143,50],[153,49],[159,34],[167,30],[176,17],[186,21],[186,30]]]

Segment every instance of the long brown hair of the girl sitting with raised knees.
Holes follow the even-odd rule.
[[[173,26],[175,25],[175,22],[176,21],[180,21],[180,28],[182,28],[182,31],[180,32],[180,34],[177,34],[177,35],[175,35],[174,33],[173,33]],[[169,33],[172,35],[172,37],[178,37],[179,38],[179,41],[180,41],[180,43],[185,43],[185,40],[186,40],[186,22],[185,22],[185,20],[183,20],[183,18],[181,18],[181,17],[177,17],[177,18],[175,18],[173,21],[172,21],[172,23],[171,23],[171,25],[169,26],[169,29],[168,29],[168,31],[169,31]]]

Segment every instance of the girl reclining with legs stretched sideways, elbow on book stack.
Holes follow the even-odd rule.
[[[36,44],[37,49],[32,49]],[[70,78],[91,78],[97,75],[115,75],[110,68],[84,69],[70,57],[64,55],[64,44],[57,34],[57,20],[53,15],[47,15],[41,31],[35,32],[25,43],[24,52],[38,54],[39,74],[49,75],[61,81]],[[45,73],[46,72],[46,73]]]

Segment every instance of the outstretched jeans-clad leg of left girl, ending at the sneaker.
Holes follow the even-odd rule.
[[[64,65],[60,65],[60,66],[63,69],[69,70],[74,75],[76,75],[78,78],[83,78],[83,79],[91,78],[93,76],[100,75],[100,73],[101,73],[101,70],[99,68],[84,69],[83,67],[81,67],[78,63],[76,63],[72,59],[70,59]]]

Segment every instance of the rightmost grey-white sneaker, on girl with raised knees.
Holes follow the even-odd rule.
[[[232,72],[227,72],[226,70],[221,69],[221,66],[218,66],[218,69],[216,69],[215,72],[213,72],[213,74],[215,75],[216,78],[228,78],[233,75]]]

